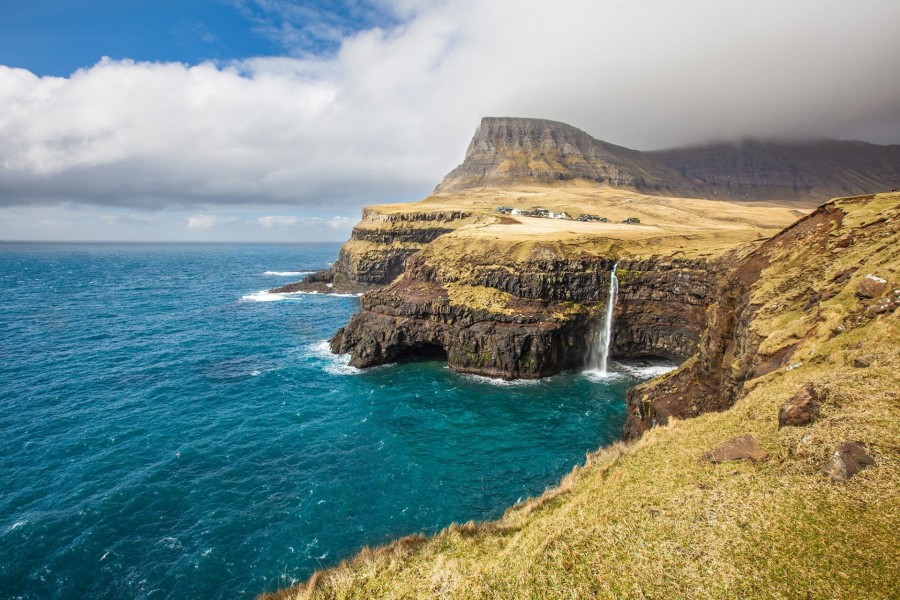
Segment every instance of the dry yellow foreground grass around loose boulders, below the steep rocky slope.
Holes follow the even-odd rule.
[[[869,332],[879,347],[900,333],[888,326]],[[871,373],[772,374],[726,413],[589,457],[497,523],[366,551],[285,597],[897,597],[900,410],[886,394],[900,361],[896,349],[882,360]],[[828,390],[822,418],[779,432],[778,407],[810,380]],[[748,432],[769,461],[699,460]],[[818,469],[847,439],[869,442],[878,464],[835,485]]]

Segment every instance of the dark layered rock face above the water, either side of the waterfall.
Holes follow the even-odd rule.
[[[593,257],[445,269],[423,253],[331,342],[368,367],[438,352],[454,370],[537,378],[584,364],[615,260]],[[697,349],[719,261],[619,261],[614,354],[682,360]],[[490,297],[490,305],[481,301]],[[499,299],[499,300],[497,300]]]

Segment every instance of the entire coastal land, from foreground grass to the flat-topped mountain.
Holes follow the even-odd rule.
[[[900,194],[863,193],[896,186],[896,147],[835,170],[849,143],[647,158],[573,130],[486,119],[432,196],[366,209],[330,270],[273,292],[366,291],[331,341],[355,366],[536,378],[583,366],[615,268],[612,355],[681,367],[501,520],[277,597],[896,596]]]

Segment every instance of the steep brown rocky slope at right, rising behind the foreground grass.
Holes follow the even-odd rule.
[[[898,219],[900,194],[834,200],[737,261],[715,290],[695,360],[629,390],[623,437],[729,408],[772,372],[843,367],[848,348],[874,362],[879,349],[858,332],[879,319],[896,326]]]

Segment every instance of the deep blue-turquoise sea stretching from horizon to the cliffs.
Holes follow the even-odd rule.
[[[337,251],[0,245],[0,598],[252,598],[619,437],[634,369],[346,366],[358,298],[259,294]]]

